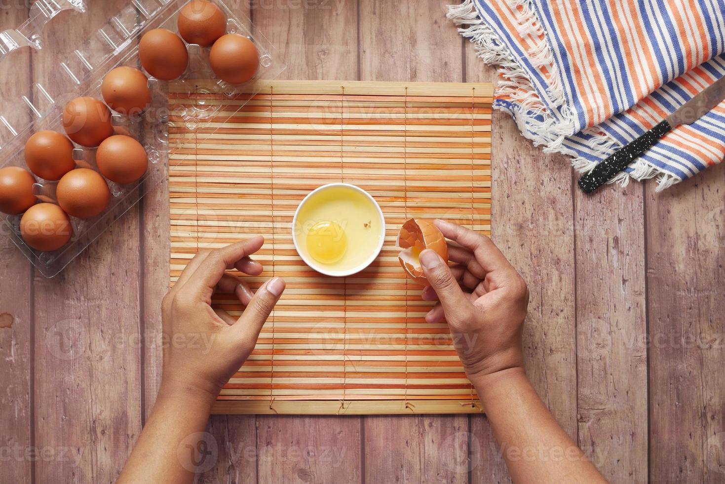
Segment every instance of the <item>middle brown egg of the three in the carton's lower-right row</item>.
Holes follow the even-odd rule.
[[[103,177],[88,168],[76,168],[66,173],[58,182],[55,194],[60,208],[78,218],[97,216],[111,197]]]

